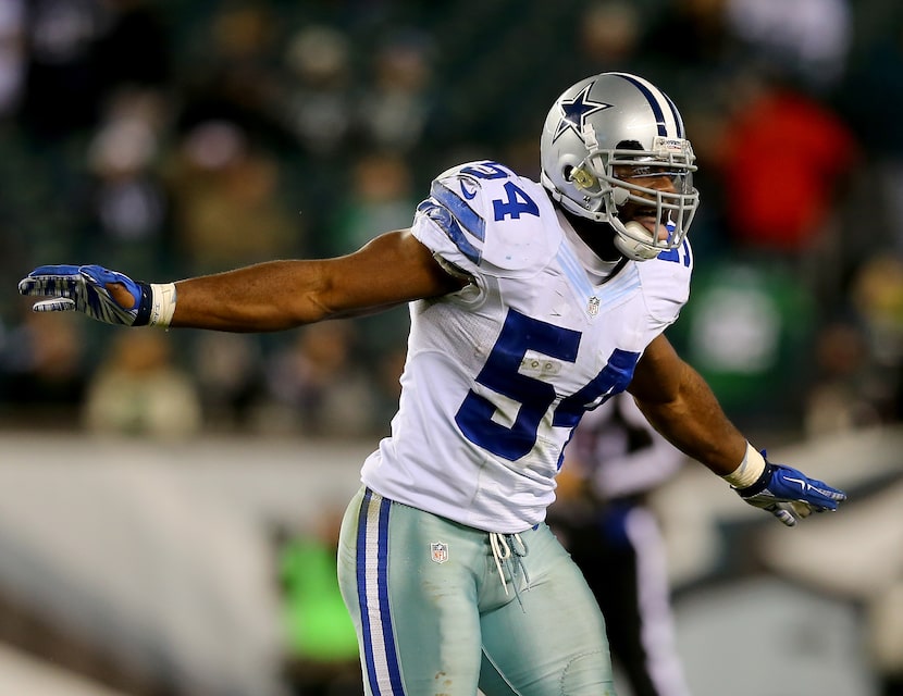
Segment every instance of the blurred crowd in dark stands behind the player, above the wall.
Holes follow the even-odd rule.
[[[405,308],[133,333],[35,314],[15,283],[352,251],[454,164],[537,178],[547,109],[609,70],[686,122],[703,203],[669,336],[729,415],[772,446],[899,423],[899,2],[0,0],[0,430],[373,443]]]

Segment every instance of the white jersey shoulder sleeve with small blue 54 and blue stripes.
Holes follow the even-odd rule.
[[[471,162],[433,179],[412,233],[470,275],[525,277],[554,258],[560,229],[545,190],[496,162]]]

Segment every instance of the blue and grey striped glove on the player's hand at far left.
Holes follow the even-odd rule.
[[[125,286],[134,300],[131,308],[113,299],[108,283]],[[99,265],[41,265],[20,281],[18,291],[53,298],[36,302],[32,308],[36,312],[84,312],[99,322],[124,326],[146,325],[152,301],[150,285]]]

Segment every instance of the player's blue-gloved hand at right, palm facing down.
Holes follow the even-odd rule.
[[[772,464],[767,459],[758,481],[746,488],[738,488],[737,493],[750,505],[767,510],[788,526],[794,526],[813,512],[837,510],[838,504],[846,500],[846,494],[842,490],[809,478],[796,469]]]

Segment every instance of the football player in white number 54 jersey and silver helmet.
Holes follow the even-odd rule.
[[[793,525],[845,495],[767,461],[663,335],[689,296],[698,206],[671,100],[605,73],[568,88],[542,182],[438,175],[410,228],[349,256],[148,284],[45,265],[36,311],[270,332],[409,303],[392,432],[363,462],[338,549],[367,693],[613,694],[602,614],[545,524],[581,415],[627,389],[675,446]]]

